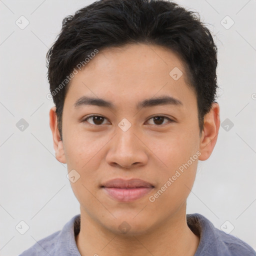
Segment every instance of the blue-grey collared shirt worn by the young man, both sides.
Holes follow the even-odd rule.
[[[237,237],[215,228],[198,213],[186,214],[187,225],[200,237],[194,256],[256,256],[256,252]],[[39,240],[19,256],[80,256],[75,235],[80,230],[80,214],[72,217],[61,231]]]

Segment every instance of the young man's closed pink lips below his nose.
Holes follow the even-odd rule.
[[[154,186],[142,179],[111,179],[101,185],[101,188],[112,199],[122,202],[139,199],[149,193]]]

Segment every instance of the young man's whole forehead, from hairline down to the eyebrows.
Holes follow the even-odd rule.
[[[99,50],[69,87],[67,94],[73,100],[84,95],[119,103],[165,94],[195,98],[179,56],[165,47],[142,43]]]

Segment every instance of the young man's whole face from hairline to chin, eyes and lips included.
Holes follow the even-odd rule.
[[[70,183],[81,216],[130,234],[183,218],[198,159],[214,146],[203,147],[185,75],[169,49],[130,44],[99,51],[72,78],[62,141],[53,111],[51,127],[57,159],[78,178]]]

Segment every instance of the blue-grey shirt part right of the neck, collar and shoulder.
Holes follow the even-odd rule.
[[[187,214],[189,228],[200,236],[195,256],[256,256],[255,250],[241,239],[223,232],[201,214]]]

